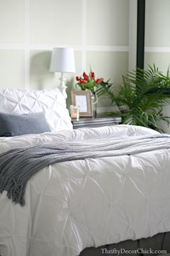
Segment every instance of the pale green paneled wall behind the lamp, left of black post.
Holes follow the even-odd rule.
[[[76,56],[76,74],[66,74],[68,106],[76,75],[90,65],[98,77],[119,84],[134,62],[130,4],[135,0],[0,0],[0,88],[57,87],[51,51],[67,46]],[[98,111],[109,104],[100,99]]]

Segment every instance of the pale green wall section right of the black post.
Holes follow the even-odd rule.
[[[156,64],[164,73],[170,65],[169,10],[169,0],[146,0],[145,68]],[[164,114],[170,116],[170,105],[164,108]],[[162,127],[170,133],[170,127]]]

